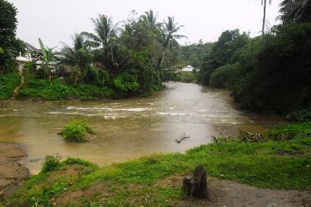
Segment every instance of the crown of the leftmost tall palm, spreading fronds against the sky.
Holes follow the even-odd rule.
[[[91,19],[94,24],[95,33],[86,33],[87,37],[93,40],[96,47],[106,48],[112,37],[117,37],[119,32],[118,24],[112,24],[112,17],[100,15],[96,19]]]

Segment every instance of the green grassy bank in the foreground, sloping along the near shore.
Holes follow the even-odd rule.
[[[12,206],[172,206],[185,194],[167,185],[203,164],[208,176],[261,188],[311,188],[311,122],[276,126],[264,136],[215,138],[185,154],[158,154],[98,168],[79,159],[47,159]],[[51,166],[51,170],[49,170]],[[181,177],[182,178],[182,177]]]

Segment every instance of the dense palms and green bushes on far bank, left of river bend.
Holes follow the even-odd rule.
[[[3,39],[15,37],[16,9],[4,0],[1,3],[14,11],[12,19],[15,20],[8,23],[12,34],[3,33]],[[185,36],[178,35],[183,26],[178,26],[174,17],[162,23],[157,18],[153,10],[140,17],[133,11],[119,26],[113,24],[112,17],[100,14],[92,19],[94,33],[74,34],[72,46],[63,43],[60,52],[45,46],[39,38],[41,53],[31,55],[33,62],[42,60],[40,70],[35,69],[34,63],[26,66],[26,83],[17,98],[94,100],[149,96],[161,90],[162,82],[169,77],[165,69],[178,64],[167,54],[173,54],[179,46],[177,40]],[[17,51],[24,53],[15,48],[15,53]],[[1,63],[13,62],[17,56],[5,57],[6,54],[6,48],[4,53],[1,49],[1,57],[6,59]],[[51,63],[57,65],[51,66]],[[7,64],[3,64],[2,69],[3,73],[12,70]]]

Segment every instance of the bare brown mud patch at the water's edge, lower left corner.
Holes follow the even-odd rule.
[[[26,150],[17,144],[0,143],[0,200],[6,200],[29,176],[28,169],[18,163],[27,156]]]

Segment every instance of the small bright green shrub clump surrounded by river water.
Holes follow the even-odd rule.
[[[84,120],[76,120],[70,123],[67,123],[62,127],[62,130],[59,134],[62,135],[62,138],[65,141],[74,141],[78,143],[85,142],[85,134],[94,134],[94,130],[89,127]]]

